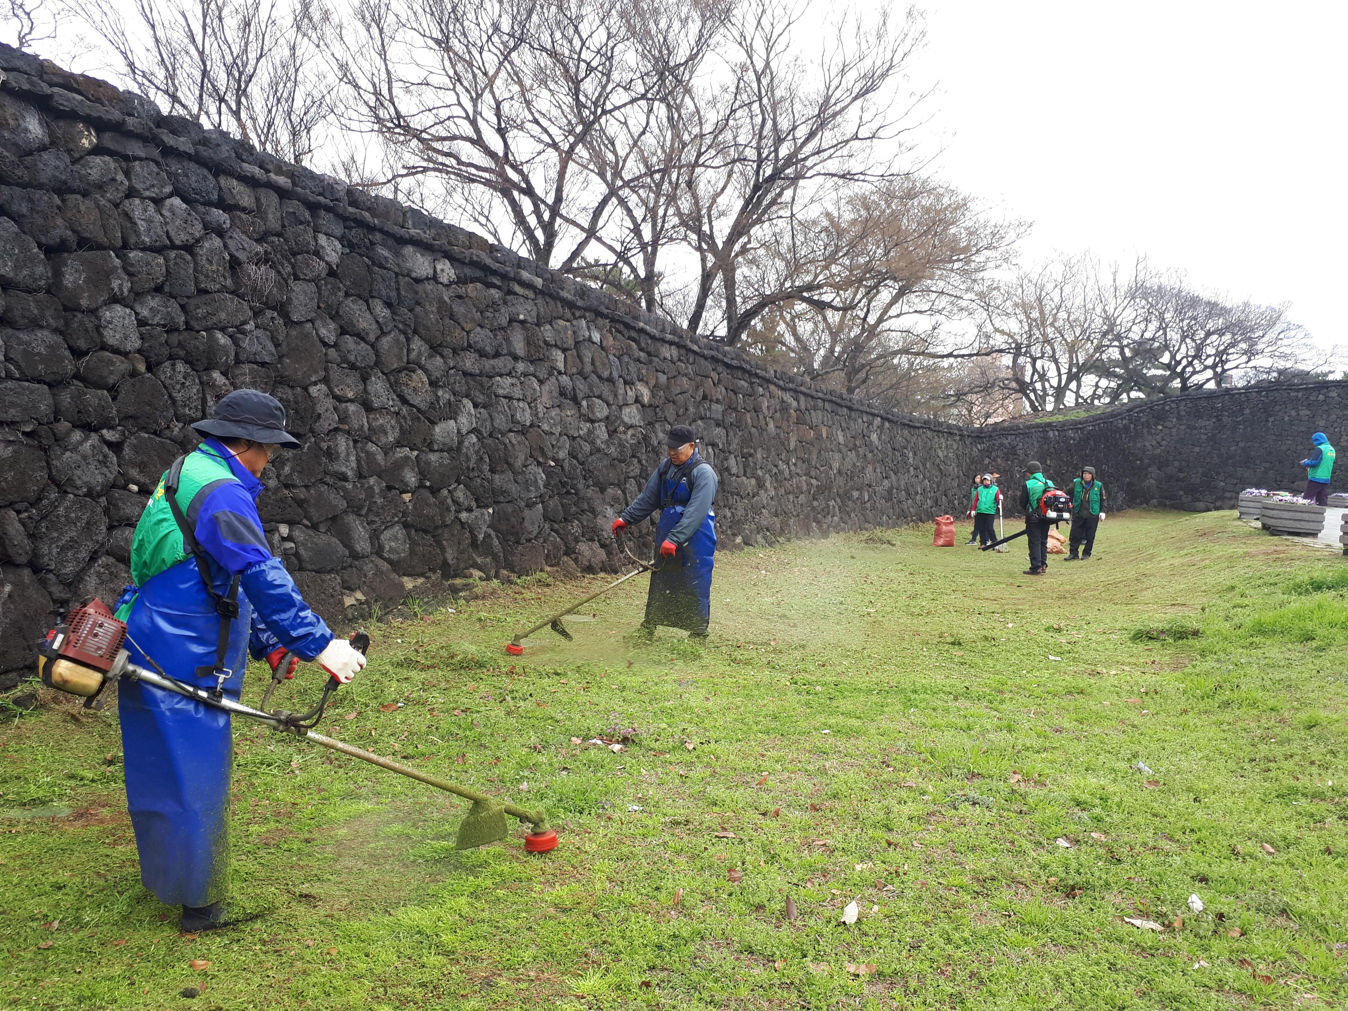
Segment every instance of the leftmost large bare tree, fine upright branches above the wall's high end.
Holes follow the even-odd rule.
[[[313,0],[58,0],[168,112],[303,164],[333,116]]]

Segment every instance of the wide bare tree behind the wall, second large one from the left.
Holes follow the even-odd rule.
[[[547,267],[572,270],[612,210],[585,163],[646,93],[644,11],[624,0],[360,0],[338,69],[402,178]]]

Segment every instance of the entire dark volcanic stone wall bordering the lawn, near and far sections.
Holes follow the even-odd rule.
[[[0,71],[0,687],[54,604],[116,599],[147,495],[236,388],[303,442],[259,511],[337,623],[410,580],[616,568],[671,423],[735,550],[960,512],[975,466],[1030,456],[1095,462],[1115,507],[1224,507],[1341,417],[1344,384],[988,433],[887,414],[102,81],[4,46]]]

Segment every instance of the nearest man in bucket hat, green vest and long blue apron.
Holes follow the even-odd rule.
[[[235,700],[249,647],[274,671],[294,652],[287,677],[317,659],[349,682],[365,658],[305,604],[257,516],[263,468],[299,446],[286,410],[237,390],[191,427],[206,439],[160,479],[132,539],[135,582],[117,601],[131,662]],[[117,709],[140,880],[182,906],[183,930],[228,925],[229,714],[131,679]]]

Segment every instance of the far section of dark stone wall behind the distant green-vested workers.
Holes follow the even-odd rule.
[[[1313,454],[1316,431],[1348,445],[1348,383],[1202,390],[1080,421],[991,427],[979,456],[1003,474],[1038,460],[1064,487],[1082,465],[1099,468],[1113,510],[1206,512],[1235,508],[1244,488],[1305,488],[1298,464]]]

